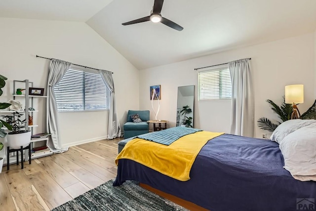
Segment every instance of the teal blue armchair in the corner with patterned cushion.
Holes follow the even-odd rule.
[[[143,121],[141,123],[133,123],[131,115],[138,114],[140,119]],[[128,110],[127,122],[124,124],[124,139],[130,138],[136,135],[141,135],[149,132],[149,126],[147,121],[149,121],[149,110],[146,111],[132,111]]]

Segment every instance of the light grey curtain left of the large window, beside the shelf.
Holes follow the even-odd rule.
[[[48,72],[48,80],[47,80],[47,97],[48,103],[46,107],[47,117],[46,117],[46,127],[51,136],[48,136],[47,146],[54,153],[62,153],[68,150],[67,148],[61,147],[61,139],[59,135],[59,126],[58,126],[58,111],[56,104],[56,96],[54,92],[54,86],[56,86],[67,70],[69,69],[71,63],[58,60],[51,59],[49,72]]]

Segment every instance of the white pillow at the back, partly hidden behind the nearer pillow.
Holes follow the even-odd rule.
[[[295,130],[316,123],[316,120],[288,120],[283,122],[281,125],[276,127],[275,131],[273,131],[270,139],[280,143],[285,136],[294,132]]]

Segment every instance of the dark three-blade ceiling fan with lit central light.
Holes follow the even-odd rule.
[[[176,24],[175,22],[168,20],[168,19],[161,16],[160,12],[161,12],[161,8],[162,8],[162,4],[163,4],[163,0],[155,0],[154,7],[153,7],[153,10],[151,11],[150,16],[139,18],[136,20],[132,20],[132,21],[129,21],[126,23],[122,23],[122,25],[126,26],[126,25],[130,25],[130,24],[135,24],[135,23],[152,21],[154,23],[160,22],[168,27],[171,27],[172,29],[182,31],[183,27],[181,27],[180,25]]]

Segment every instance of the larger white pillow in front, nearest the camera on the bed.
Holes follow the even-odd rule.
[[[287,135],[279,144],[284,168],[295,179],[316,181],[316,123]]]

